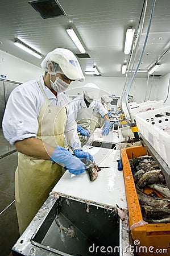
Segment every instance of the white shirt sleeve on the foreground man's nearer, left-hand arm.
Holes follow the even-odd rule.
[[[3,115],[3,134],[11,145],[16,141],[36,137],[38,131],[38,102],[33,94],[27,96],[24,87],[15,88],[7,101]]]

